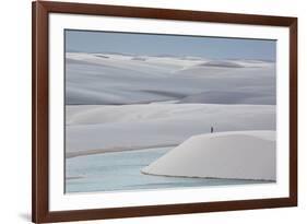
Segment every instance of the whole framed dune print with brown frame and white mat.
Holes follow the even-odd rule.
[[[297,204],[297,19],[33,2],[33,222]]]

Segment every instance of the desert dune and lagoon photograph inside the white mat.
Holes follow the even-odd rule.
[[[276,40],[64,30],[64,192],[276,182]]]

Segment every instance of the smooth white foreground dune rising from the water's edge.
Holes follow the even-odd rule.
[[[232,131],[194,135],[142,169],[181,177],[276,179],[275,132]]]

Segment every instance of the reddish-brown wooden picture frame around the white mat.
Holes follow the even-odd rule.
[[[217,12],[114,7],[101,4],[33,2],[33,152],[32,219],[36,223],[167,215],[297,205],[297,19]],[[290,28],[290,197],[259,200],[182,203],[117,209],[50,212],[48,208],[48,14],[73,13],[139,19],[163,19]]]

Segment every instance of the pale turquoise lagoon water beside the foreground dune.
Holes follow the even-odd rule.
[[[265,184],[269,181],[184,178],[144,175],[140,170],[172,148],[103,153],[66,161],[66,192],[128,191]]]

